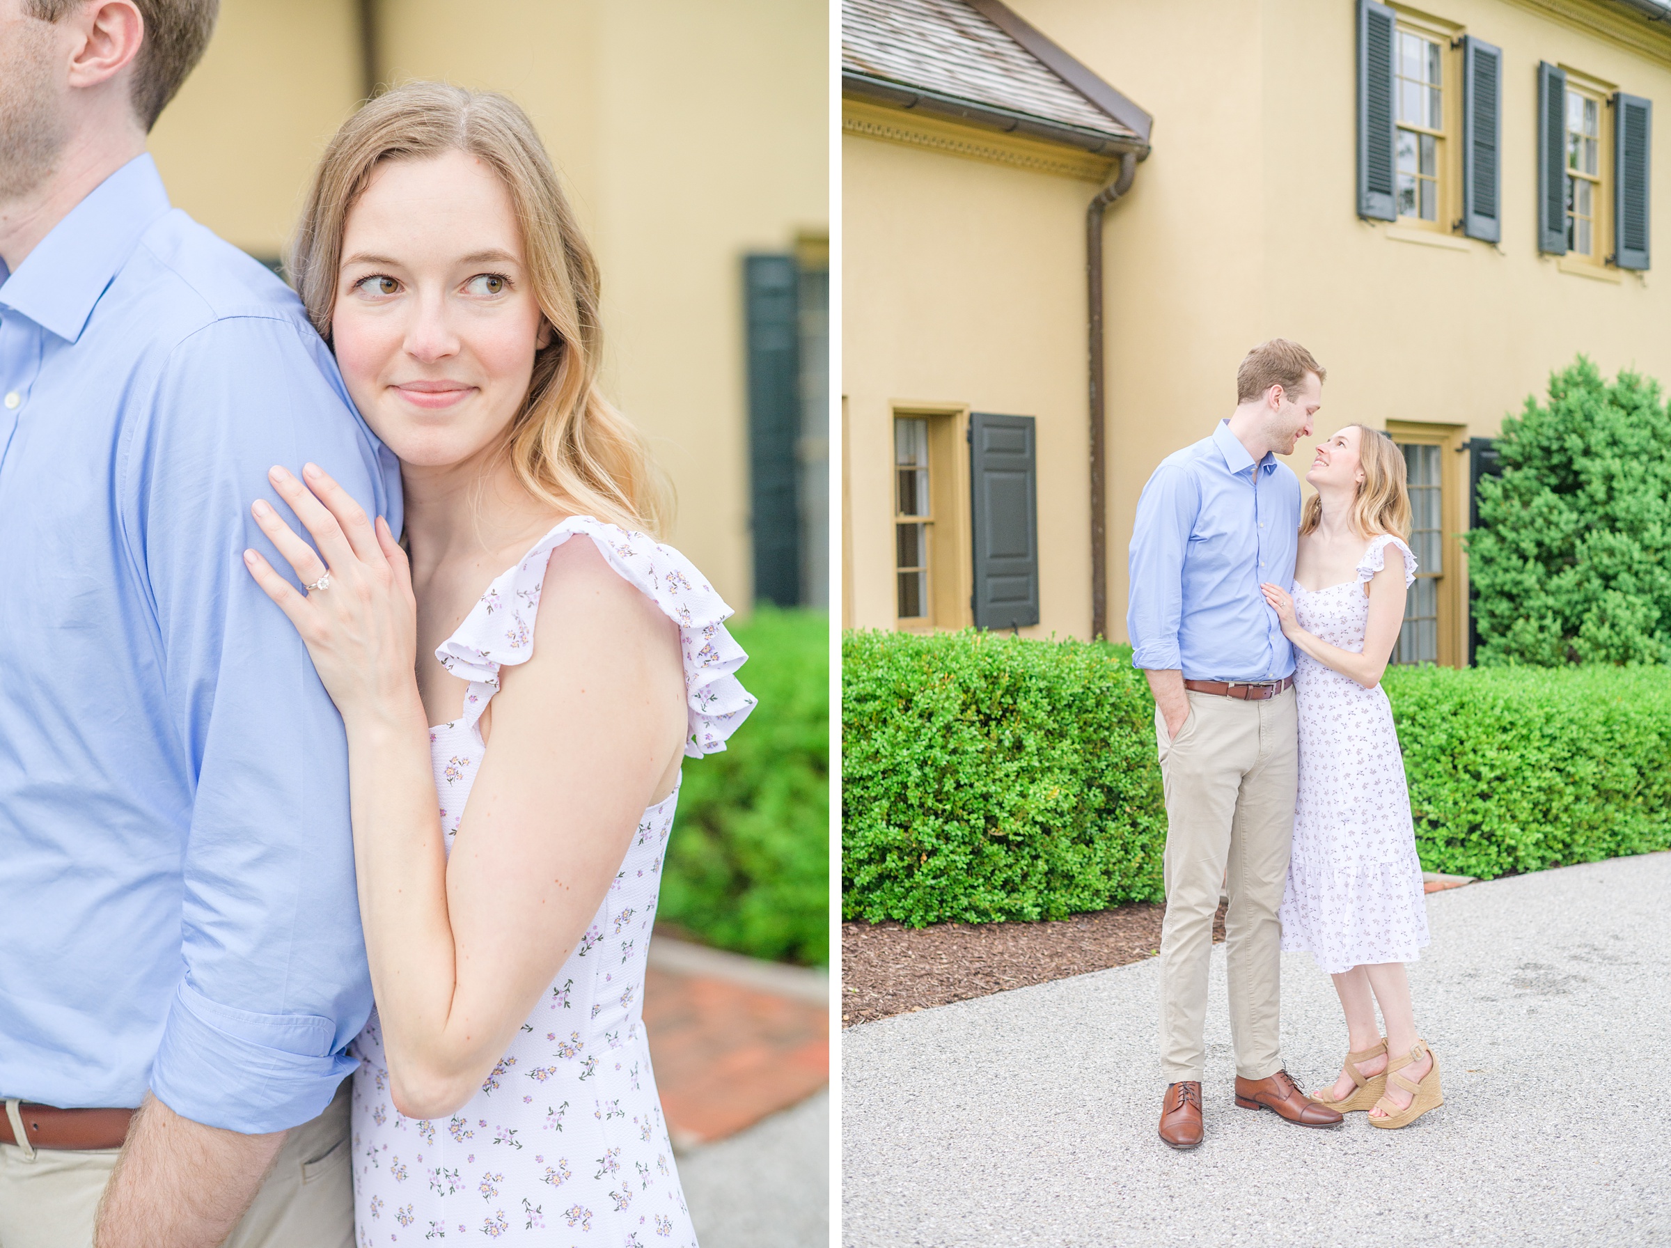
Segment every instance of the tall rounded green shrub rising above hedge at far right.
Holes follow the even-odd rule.
[[[1671,660],[1671,414],[1659,384],[1579,356],[1526,399],[1467,538],[1477,662]]]

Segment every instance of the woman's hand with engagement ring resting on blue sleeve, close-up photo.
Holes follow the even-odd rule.
[[[254,550],[244,551],[249,575],[296,625],[344,720],[403,718],[414,710],[423,718],[414,677],[418,605],[406,551],[383,516],[373,521],[317,464],[306,464],[302,476],[277,466],[267,473],[317,551],[264,500],[251,513],[307,591],[297,591]]]

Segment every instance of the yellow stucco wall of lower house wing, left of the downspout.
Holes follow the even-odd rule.
[[[1039,581],[1046,588],[1039,625],[1021,632],[1086,630],[1083,221],[1095,190],[1068,177],[842,139],[847,558],[856,625],[894,625],[894,404],[941,403],[1036,418]]]

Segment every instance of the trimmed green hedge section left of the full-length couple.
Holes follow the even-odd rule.
[[[847,633],[844,914],[921,927],[1158,900],[1153,707],[1123,647]]]

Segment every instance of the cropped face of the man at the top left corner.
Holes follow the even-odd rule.
[[[0,0],[0,204],[45,182],[63,150],[63,28]]]

